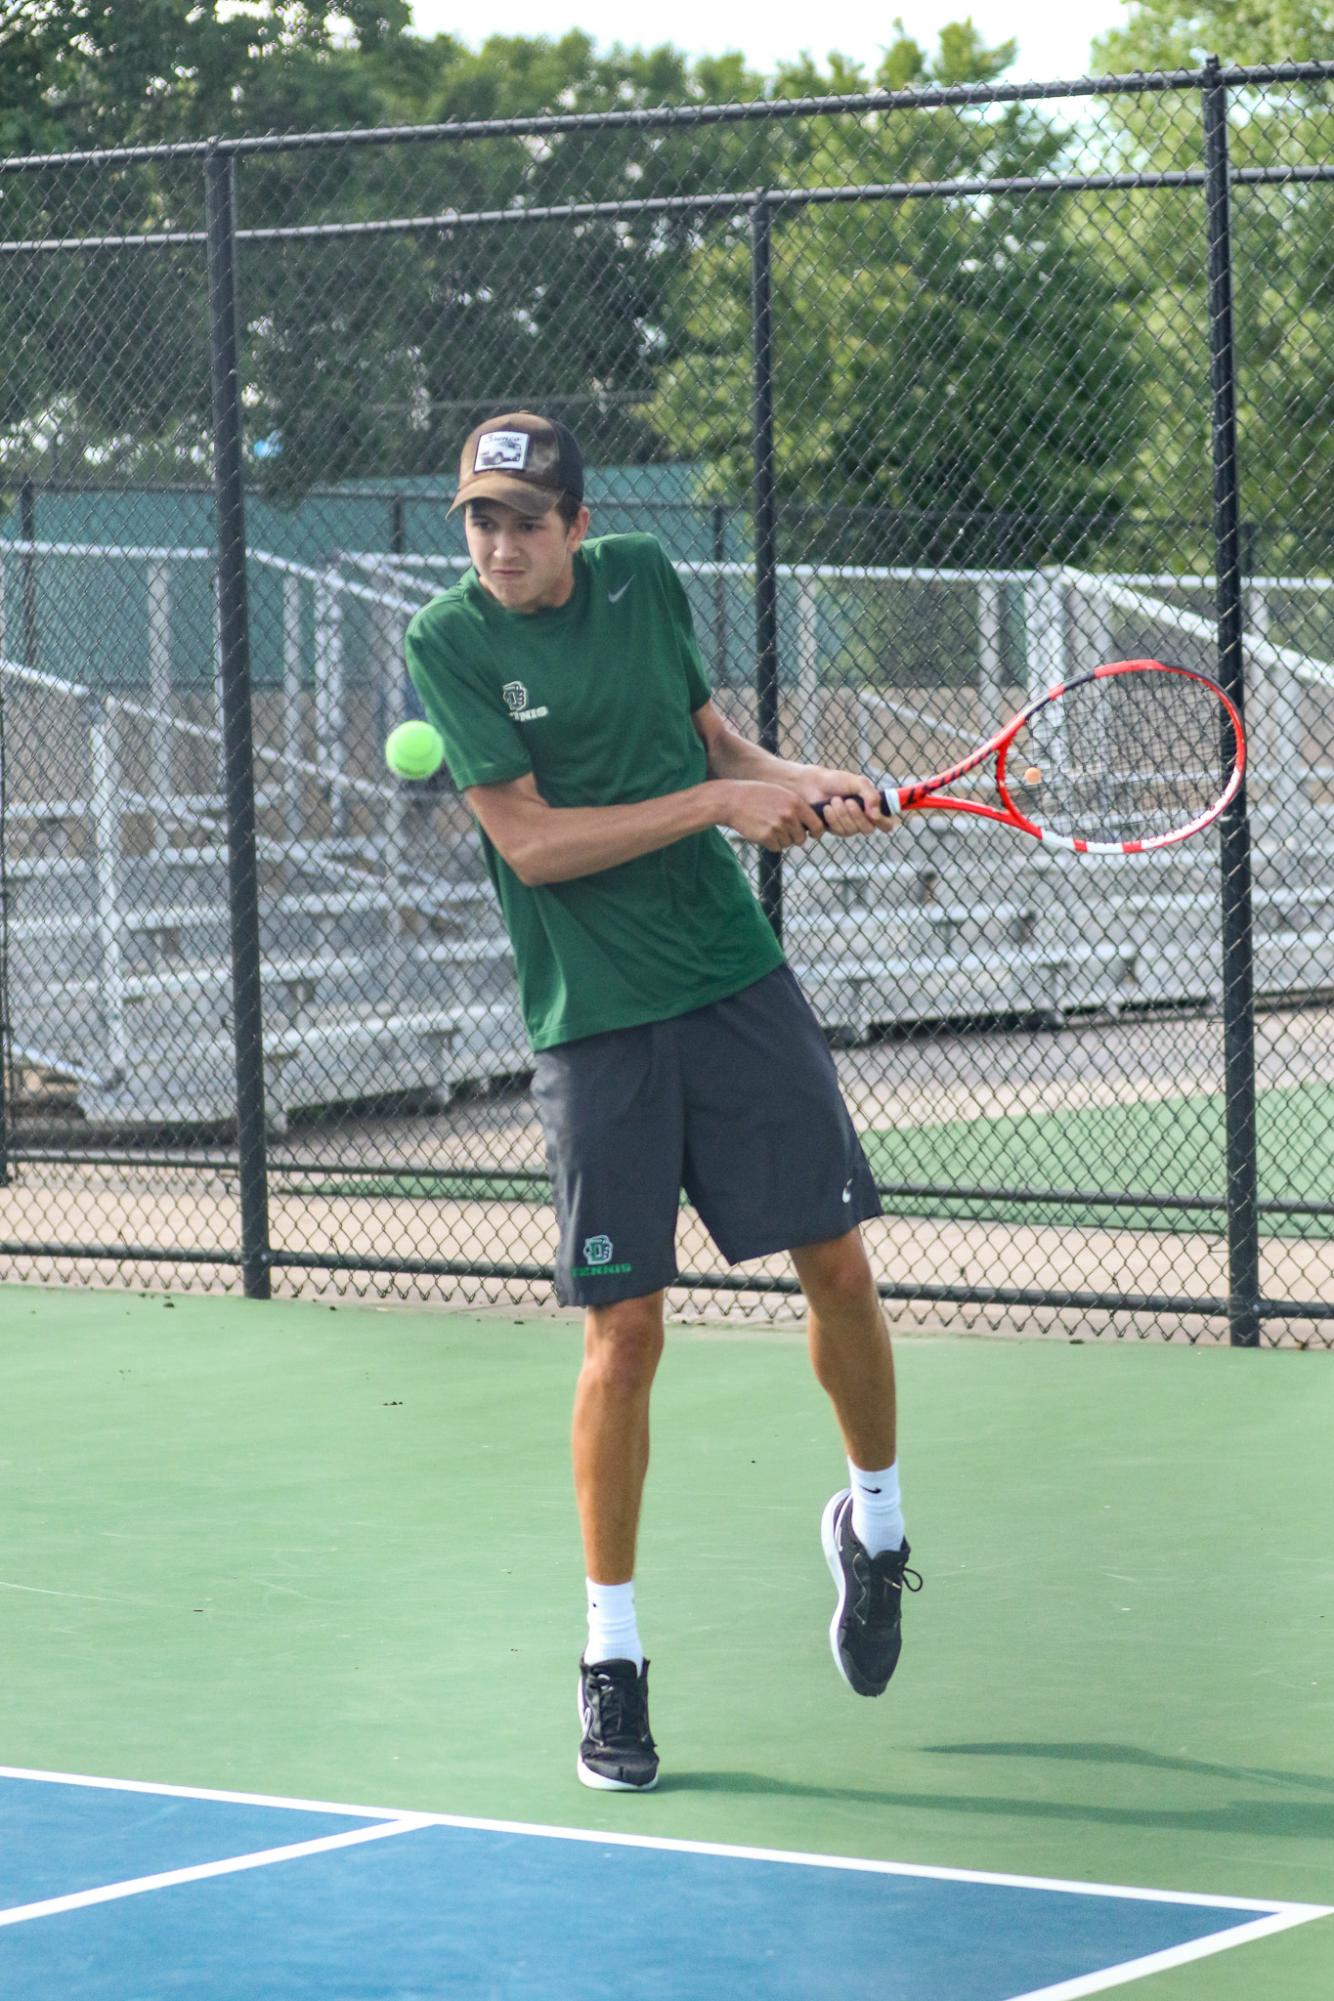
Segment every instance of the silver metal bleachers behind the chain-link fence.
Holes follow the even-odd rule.
[[[70,544],[30,552],[84,564],[98,554]],[[24,1071],[64,1081],[92,1127],[226,1125],[236,1087],[216,696],[206,674],[180,684],[162,624],[170,570],[212,558],[114,556],[142,566],[156,606],[146,698],[38,672],[0,646],[10,1037]],[[282,682],[256,690],[274,1127],[306,1109],[388,1095],[440,1107],[464,1087],[520,1075],[530,1059],[508,942],[468,816],[448,788],[396,784],[378,760],[384,724],[402,712],[402,626],[444,578],[426,560],[380,554],[324,568],[252,560],[276,578],[284,634]],[[720,582],[748,590],[742,564],[682,574],[708,606]],[[940,572],[846,574],[862,592],[942,582]],[[1078,670],[1084,652],[1182,658],[1212,636],[1180,602],[1180,580],[946,576],[978,592],[976,676],[950,694],[954,720],[928,716],[922,734],[920,694],[830,686],[816,598],[844,580],[838,570],[786,572],[796,670],[784,712],[794,748],[872,764],[896,752],[900,772],[940,762],[932,730],[972,738],[1014,694],[996,638],[1002,586],[1024,592],[1034,684]],[[1324,702],[1334,670],[1272,644],[1262,624],[1256,616],[1250,642],[1260,694],[1256,986],[1292,994],[1330,984],[1334,904],[1334,774],[1292,762],[1292,690]],[[1208,1005],[1220,986],[1218,850],[1206,838],[1150,862],[1094,862],[956,816],[922,816],[884,846],[826,842],[802,854],[786,872],[784,940],[840,1043],[920,1021]]]

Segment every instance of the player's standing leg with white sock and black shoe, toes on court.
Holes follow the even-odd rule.
[[[580,1661],[578,1777],[648,1791],[648,1663],[634,1613],[634,1545],[648,1473],[648,1397],[662,1357],[662,1293],[590,1307],[574,1393],[574,1495],[584,1533],[588,1647]]]

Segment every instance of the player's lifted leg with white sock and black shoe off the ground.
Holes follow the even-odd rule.
[[[848,1487],[824,1509],[820,1543],[838,1593],[834,1665],[856,1695],[882,1695],[902,1647],[908,1539],[898,1493],[894,1353],[860,1231],[792,1253],[810,1305],[810,1359],[848,1451]]]

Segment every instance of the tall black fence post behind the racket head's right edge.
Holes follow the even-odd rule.
[[[1208,212],[1208,328],[1214,438],[1214,574],[1218,678],[1244,712],[1246,658],[1242,530],[1232,336],[1232,182],[1228,88],[1208,60],[1204,188]],[[1230,756],[1224,744],[1224,756]],[[1260,1187],[1256,1165],[1254,932],[1246,786],[1222,818],[1222,1033],[1228,1149],[1228,1327],[1234,1347],[1260,1347]]]

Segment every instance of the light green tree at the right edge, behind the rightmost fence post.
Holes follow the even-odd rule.
[[[1328,58],[1334,20],[1310,0],[1138,0],[1124,28],[1098,42],[1100,68],[1198,66]],[[1276,82],[1230,92],[1234,168],[1284,168],[1270,184],[1236,184],[1230,202],[1238,354],[1240,504],[1254,560],[1266,570],[1328,568],[1334,558],[1334,188],[1292,168],[1330,158],[1328,86]],[[1200,100],[1184,94],[1114,98],[1104,112],[1120,162],[1202,164]],[[1156,416],[1142,452],[1144,478],[1182,460],[1182,386],[1196,404],[1208,366],[1208,284],[1202,198],[1164,190],[1136,204],[1116,254],[1142,280],[1142,314],[1158,330]],[[1110,250],[1110,232],[1104,228]],[[1208,544],[1208,432],[1192,438],[1198,554]]]

